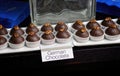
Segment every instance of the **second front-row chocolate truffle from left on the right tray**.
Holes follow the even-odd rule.
[[[100,27],[94,27],[91,31],[90,31],[90,35],[91,36],[102,36],[104,34],[103,30],[100,29]]]

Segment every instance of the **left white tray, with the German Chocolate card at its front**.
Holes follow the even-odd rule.
[[[53,25],[54,28],[55,25]],[[41,28],[41,26],[37,26],[38,29]],[[25,30],[26,28],[23,27],[23,30]],[[11,29],[7,29],[8,32],[10,32]],[[63,48],[69,48],[69,47],[73,47],[72,44],[72,39],[70,42],[67,43],[54,43],[52,45],[44,45],[40,43],[39,47],[35,47],[35,48],[29,48],[26,45],[24,45],[22,48],[19,49],[12,49],[9,46],[5,49],[1,49],[0,50],[0,54],[10,54],[10,53],[21,53],[21,52],[30,52],[30,51],[36,51],[36,50],[54,50],[54,49],[63,49]]]

